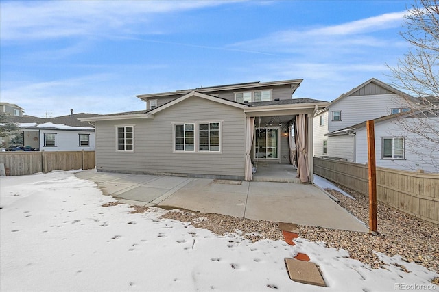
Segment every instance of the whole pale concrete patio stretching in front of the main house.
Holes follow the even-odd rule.
[[[126,204],[175,207],[248,219],[368,232],[368,227],[314,185],[116,174],[85,170],[105,195]]]

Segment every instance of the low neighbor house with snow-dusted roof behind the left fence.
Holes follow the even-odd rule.
[[[73,114],[54,118],[35,116],[14,116],[12,122],[22,129],[23,145],[45,151],[95,150],[95,128],[78,118],[96,116],[95,114]],[[8,148],[5,145],[4,148]]]

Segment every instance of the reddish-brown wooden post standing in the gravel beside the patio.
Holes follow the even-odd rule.
[[[375,166],[375,127],[373,120],[366,121],[368,135],[369,178],[369,231],[377,234],[377,168]]]

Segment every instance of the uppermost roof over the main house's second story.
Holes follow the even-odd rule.
[[[219,92],[225,90],[246,90],[246,89],[255,89],[255,88],[265,88],[268,86],[278,86],[278,85],[291,85],[293,93],[300,86],[303,79],[291,79],[291,80],[283,80],[283,81],[272,81],[272,82],[248,82],[248,83],[236,83],[236,84],[228,84],[228,85],[217,85],[217,86],[209,86],[209,87],[200,87],[186,90],[176,90],[173,92],[160,92],[160,93],[152,93],[152,94],[140,94],[137,95],[138,98],[152,98],[152,97],[161,97],[161,96],[176,96],[176,95],[185,95],[189,92],[196,91],[201,93],[206,92]]]

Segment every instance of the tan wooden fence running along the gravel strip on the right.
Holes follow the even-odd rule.
[[[368,196],[368,166],[314,157],[314,173]],[[439,226],[439,174],[377,168],[377,200]]]

